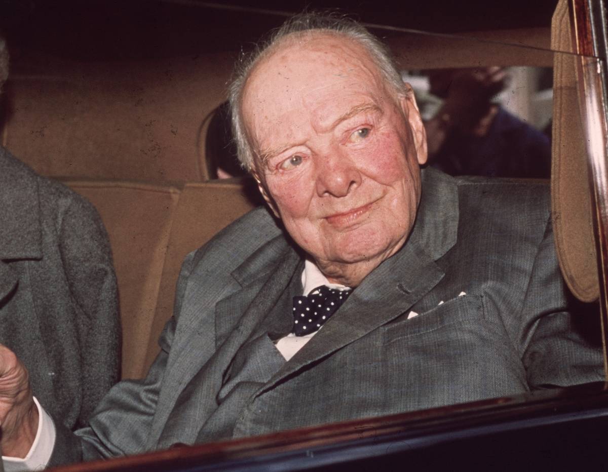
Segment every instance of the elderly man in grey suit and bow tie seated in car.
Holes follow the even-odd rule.
[[[412,92],[362,27],[288,22],[231,103],[277,220],[254,210],[187,257],[147,378],[75,435],[5,353],[5,454],[55,465],[603,378],[545,186],[421,174]]]

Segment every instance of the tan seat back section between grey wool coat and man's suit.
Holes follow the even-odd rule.
[[[179,188],[133,182],[65,183],[95,205],[108,230],[119,285],[122,377],[140,377]]]

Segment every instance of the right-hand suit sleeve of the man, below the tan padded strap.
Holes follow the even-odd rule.
[[[520,346],[531,389],[601,381],[596,307],[577,303],[559,273],[551,223],[534,261],[523,304]]]

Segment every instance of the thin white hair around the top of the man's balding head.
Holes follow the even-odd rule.
[[[232,110],[232,136],[237,145],[238,160],[241,166],[251,171],[254,166],[254,149],[252,148],[243,122],[241,101],[243,90],[252,71],[264,57],[269,56],[277,44],[286,36],[294,33],[326,32],[344,36],[364,47],[376,63],[382,76],[395,92],[409,93],[401,80],[401,75],[389,49],[368,32],[358,22],[332,13],[301,13],[288,19],[283,26],[271,33],[267,41],[259,44],[249,55],[241,54],[235,67],[233,80],[229,87],[228,97]]]

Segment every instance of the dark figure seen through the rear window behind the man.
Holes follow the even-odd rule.
[[[430,93],[444,100],[426,121],[430,165],[453,176],[548,178],[548,137],[492,98],[508,84],[502,67],[428,70]]]

